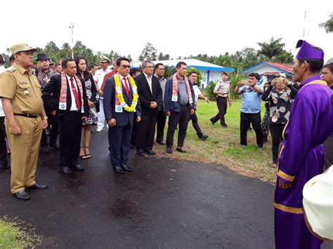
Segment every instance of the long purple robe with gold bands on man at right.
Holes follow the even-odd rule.
[[[320,248],[304,222],[303,186],[322,173],[325,156],[322,143],[333,128],[332,90],[320,76],[303,83],[296,95],[284,130],[275,188],[275,247]],[[280,189],[278,180],[292,184]]]

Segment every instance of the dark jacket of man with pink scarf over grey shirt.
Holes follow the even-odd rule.
[[[172,98],[172,76],[166,80],[165,90],[164,90],[164,112],[181,112],[181,98],[178,93],[177,102],[171,101]],[[190,85],[191,95],[192,95],[192,104],[190,104],[191,109],[195,109],[195,93],[193,90],[192,83],[188,79]]]

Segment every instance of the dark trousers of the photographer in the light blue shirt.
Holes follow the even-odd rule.
[[[247,130],[252,124],[256,133],[256,144],[263,146],[263,130],[261,130],[261,116],[260,112],[256,114],[249,114],[240,112],[240,144],[247,145]]]

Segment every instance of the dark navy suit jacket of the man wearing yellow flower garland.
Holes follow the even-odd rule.
[[[129,82],[129,81],[128,81]],[[103,94],[103,107],[105,119],[109,121],[110,119],[116,119],[117,126],[126,126],[127,123],[131,123],[133,126],[134,122],[134,112],[126,112],[125,109],[122,109],[122,112],[116,112],[115,110],[115,77],[105,81],[104,94]],[[131,106],[133,100],[133,90],[131,84],[129,83],[129,96],[126,94],[126,89],[122,84],[122,94],[124,96],[124,100],[127,105]],[[138,99],[138,104],[136,105],[136,115],[141,116],[141,107],[140,107],[140,99]]]

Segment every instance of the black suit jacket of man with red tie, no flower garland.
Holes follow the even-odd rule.
[[[89,106],[88,106],[88,96],[86,95],[86,87],[84,80],[79,77],[81,81],[82,90],[83,90],[83,100],[84,100],[84,116],[89,116]],[[66,110],[59,109],[59,97],[60,97],[60,89],[61,89],[61,74],[56,74],[51,77],[51,80],[43,89],[43,100],[44,100],[44,107],[46,112],[52,112],[54,110],[57,111],[58,116],[62,116],[67,112],[70,112],[70,107],[72,106],[72,97],[70,96],[70,83],[67,80],[67,108]],[[78,89],[79,93],[79,100],[81,102],[81,94]],[[81,103],[80,103],[81,104]]]

